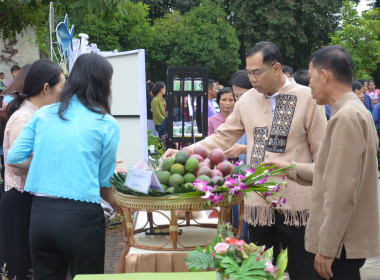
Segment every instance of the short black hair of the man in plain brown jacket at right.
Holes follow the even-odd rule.
[[[319,72],[322,68],[329,70],[338,82],[352,85],[354,63],[349,52],[342,46],[324,47],[311,55],[310,62]]]

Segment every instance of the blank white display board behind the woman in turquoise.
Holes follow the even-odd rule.
[[[102,54],[113,67],[111,114],[120,126],[117,159],[148,162],[145,50]]]

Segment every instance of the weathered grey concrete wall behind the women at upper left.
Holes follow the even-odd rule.
[[[17,34],[16,39],[11,42],[0,38],[0,72],[4,72],[7,80],[11,79],[10,69],[13,65],[18,64],[22,67],[40,58],[34,38],[35,33],[32,28]]]

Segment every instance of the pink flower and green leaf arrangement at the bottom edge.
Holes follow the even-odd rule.
[[[274,266],[272,248],[265,250],[265,246],[234,239],[230,228],[230,225],[220,227],[219,235],[210,245],[189,252],[185,261],[191,271],[215,269],[219,279],[283,279],[287,250],[280,253]]]

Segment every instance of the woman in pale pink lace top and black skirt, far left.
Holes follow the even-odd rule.
[[[30,66],[23,90],[15,92],[14,99],[7,106],[9,120],[4,132],[5,159],[34,112],[57,102],[64,84],[62,70],[53,62],[37,60]],[[6,273],[6,279],[33,279],[29,246],[33,196],[24,192],[28,169],[10,167],[6,160],[4,162],[5,192],[0,200],[0,267],[3,272],[0,276]]]

